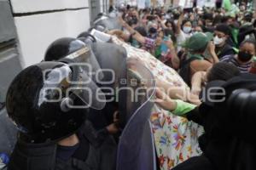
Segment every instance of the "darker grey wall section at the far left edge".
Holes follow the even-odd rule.
[[[21,70],[16,47],[17,39],[11,5],[8,0],[0,0],[0,110],[9,83]]]

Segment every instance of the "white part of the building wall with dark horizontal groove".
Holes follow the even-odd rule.
[[[49,44],[60,37],[77,37],[90,27],[89,0],[11,0],[20,61],[40,62]]]

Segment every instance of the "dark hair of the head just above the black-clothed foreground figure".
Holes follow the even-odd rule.
[[[232,77],[240,75],[240,71],[235,65],[230,63],[219,62],[212,66],[212,69],[207,75],[207,81],[212,82],[214,80],[228,81]]]

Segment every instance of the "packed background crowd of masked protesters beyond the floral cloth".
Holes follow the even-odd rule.
[[[255,14],[244,3],[239,8],[236,13],[224,8],[129,8],[119,17],[124,30],[111,34],[147,50],[190,85],[195,72],[218,62],[253,72]]]

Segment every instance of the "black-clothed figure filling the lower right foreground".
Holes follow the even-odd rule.
[[[234,77],[222,85],[226,96],[231,96],[225,102],[217,105],[203,103],[188,113],[190,121],[205,128],[206,133],[199,139],[203,155],[184,161],[173,170],[256,169],[256,139],[253,135],[256,93],[250,91],[256,89],[255,80],[254,75]],[[240,88],[247,89],[246,93]],[[235,93],[237,89],[242,93]]]

